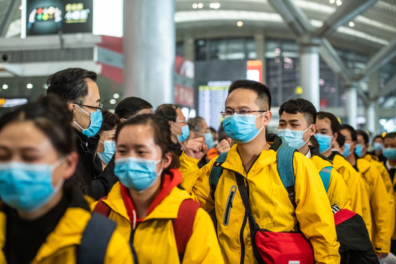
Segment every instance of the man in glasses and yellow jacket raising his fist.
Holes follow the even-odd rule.
[[[316,263],[339,263],[333,213],[315,166],[301,153],[294,154],[296,209],[280,180],[276,160],[279,140],[271,144],[265,136],[265,126],[271,119],[270,102],[265,85],[249,80],[233,82],[228,89],[223,127],[236,144],[221,165],[217,187],[212,190],[209,186],[215,159],[200,170],[196,166],[208,150],[202,138],[190,140],[181,156],[183,187],[204,209],[215,209],[226,263],[257,263],[246,210],[236,184],[237,174],[244,178],[251,210],[260,228],[293,231],[298,220],[301,231],[312,244]]]

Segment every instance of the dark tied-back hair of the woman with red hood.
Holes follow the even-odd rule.
[[[162,175],[167,173],[171,168],[179,168],[179,156],[174,153],[171,145],[171,129],[168,123],[168,120],[162,118],[157,114],[142,114],[130,117],[125,122],[120,123],[120,125],[116,129],[116,141],[118,140],[118,135],[120,131],[126,126],[134,126],[134,125],[147,125],[150,126],[154,132],[154,143],[160,146],[162,151],[162,157],[165,157],[165,154],[170,152],[172,154],[172,162],[168,166],[168,168],[164,169]]]

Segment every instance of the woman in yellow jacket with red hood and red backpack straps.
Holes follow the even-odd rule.
[[[179,187],[178,163],[171,152],[168,121],[155,114],[128,119],[116,130],[114,173],[120,182],[93,210],[117,222],[117,230],[133,243],[139,263],[223,263],[211,218]],[[192,207],[183,207],[186,201]],[[100,209],[103,205],[107,212]],[[189,230],[184,245],[177,239],[186,234],[175,224],[179,217]]]

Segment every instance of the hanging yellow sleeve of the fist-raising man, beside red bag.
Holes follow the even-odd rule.
[[[315,165],[300,153],[294,154],[295,214],[301,231],[314,249],[316,264],[340,262],[333,212]]]

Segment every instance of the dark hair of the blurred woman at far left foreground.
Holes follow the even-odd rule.
[[[72,113],[57,96],[42,96],[37,101],[18,107],[0,119],[0,130],[12,122],[31,121],[51,141],[59,156],[75,151]]]

